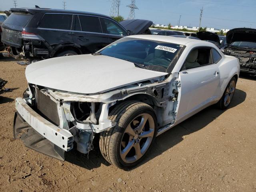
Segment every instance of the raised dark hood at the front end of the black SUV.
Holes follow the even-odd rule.
[[[134,35],[140,35],[145,32],[153,22],[143,19],[130,19],[121,21],[120,24],[126,29],[134,33]]]

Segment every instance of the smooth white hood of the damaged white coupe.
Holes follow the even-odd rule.
[[[28,83],[81,94],[102,93],[167,74],[138,68],[118,58],[92,54],[51,58],[26,68]]]

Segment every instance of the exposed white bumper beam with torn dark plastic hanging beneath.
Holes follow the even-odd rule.
[[[14,139],[22,133],[25,146],[64,160],[64,152],[73,148],[74,136],[40,116],[22,98],[16,98],[15,105]]]

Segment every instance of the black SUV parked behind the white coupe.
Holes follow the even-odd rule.
[[[2,25],[2,42],[15,58],[46,59],[94,53],[130,34],[112,18],[90,12],[48,8],[13,8]],[[132,20],[137,34],[152,22]],[[142,24],[144,26],[142,26]]]

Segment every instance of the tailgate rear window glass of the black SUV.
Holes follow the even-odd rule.
[[[17,26],[26,26],[31,18],[32,15],[29,13],[12,13],[10,16],[8,16],[4,23]]]

